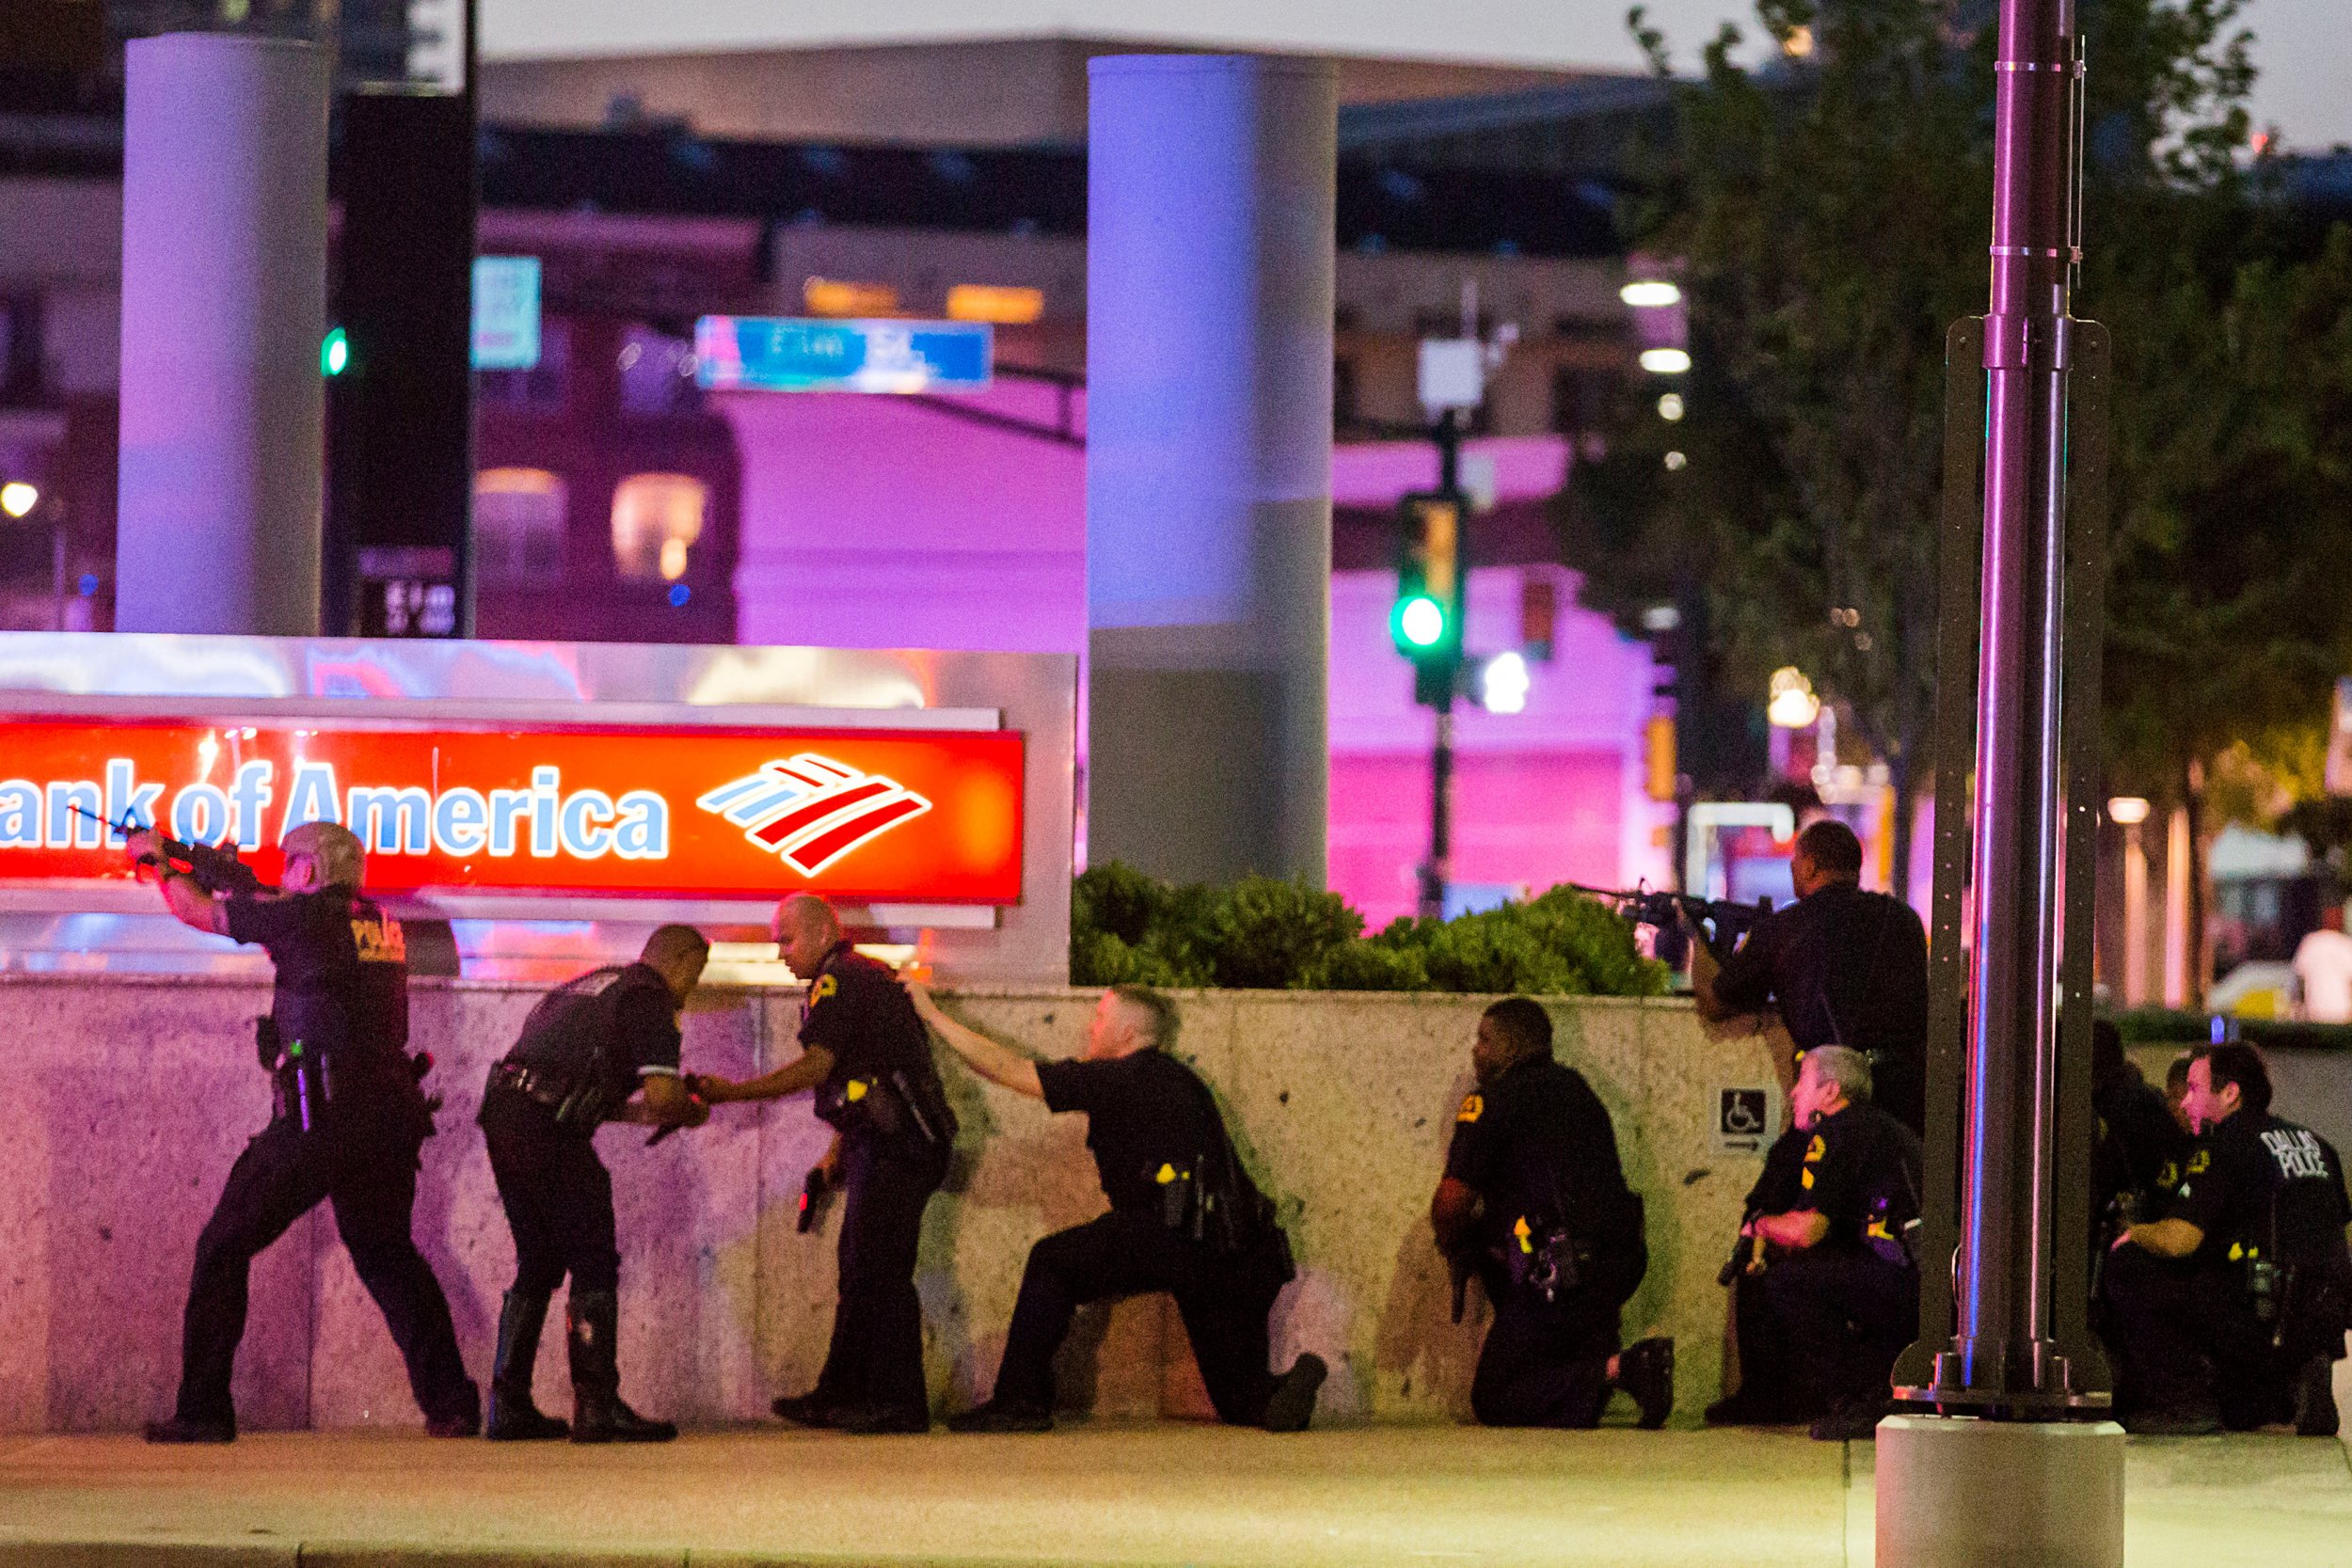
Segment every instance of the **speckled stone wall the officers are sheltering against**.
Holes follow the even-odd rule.
[[[419,983],[414,1044],[440,1060],[442,1133],[423,1150],[416,1239],[449,1291],[459,1340],[489,1373],[513,1244],[473,1128],[482,1074],[536,992]],[[1277,1361],[1331,1361],[1324,1413],[1437,1420],[1468,1410],[1482,1309],[1446,1321],[1428,1197],[1484,999],[1308,992],[1181,997],[1190,1058],[1225,1100],[1244,1159],[1282,1201],[1301,1276],[1275,1314]],[[169,1408],[195,1234],[238,1150],[268,1117],[249,983],[94,976],[0,978],[0,1429],[127,1429]],[[964,992],[948,1006],[1044,1056],[1080,1048],[1091,992]],[[1686,1004],[1552,1004],[1559,1056],[1609,1105],[1628,1178],[1649,1199],[1651,1274],[1628,1335],[1679,1340],[1679,1403],[1717,1396],[1724,1298],[1715,1269],[1759,1159],[1715,1140],[1715,1091],[1771,1081],[1752,1037],[1710,1039]],[[797,997],[706,992],[687,1065],[741,1077],[795,1053]],[[964,1121],[957,1175],[927,1215],[920,1291],[934,1392],[985,1394],[1021,1260],[1040,1234],[1101,1211],[1084,1119],[981,1086],[953,1060]],[[642,1147],[597,1138],[621,1218],[623,1389],[687,1422],[757,1420],[816,1378],[833,1312],[837,1215],[795,1234],[800,1180],[826,1143],[807,1098],[722,1107],[710,1126]],[[1472,1293],[1472,1302],[1477,1293]],[[543,1406],[562,1408],[548,1335]],[[1162,1300],[1082,1321],[1068,1403],[1101,1415],[1207,1410],[1183,1328]],[[238,1363],[247,1427],[414,1425],[400,1359],[320,1208],[254,1265]]]

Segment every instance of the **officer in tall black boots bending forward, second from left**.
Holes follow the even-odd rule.
[[[677,1070],[677,1011],[708,959],[701,931],[661,926],[635,964],[595,969],[534,1006],[515,1048],[489,1070],[480,1121],[506,1225],[515,1232],[515,1286],[499,1309],[499,1361],[489,1375],[485,1436],[492,1441],[567,1434],[564,1422],[532,1406],[539,1331],[564,1274],[572,1276],[572,1441],[666,1443],[677,1436],[677,1427],[644,1420],[621,1399],[614,1359],[621,1248],[612,1175],[593,1138],[604,1121],[699,1126],[708,1119]]]

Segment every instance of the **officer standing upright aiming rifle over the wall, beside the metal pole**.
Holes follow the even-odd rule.
[[[1731,957],[1703,943],[1691,992],[1710,1020],[1780,1009],[1797,1051],[1872,1058],[1879,1110],[1926,1128],[1926,926],[1900,898],[1865,893],[1863,842],[1835,818],[1797,835],[1797,903],[1755,924]]]

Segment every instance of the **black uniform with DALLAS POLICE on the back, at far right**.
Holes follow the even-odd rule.
[[[2107,1326],[2114,1354],[2117,1403],[2126,1410],[2220,1406],[2230,1427],[2260,1427],[2281,1418],[2296,1356],[2272,1356],[2270,1326],[2256,1309],[2256,1267],[2281,1262],[2272,1253],[2272,1206],[2288,1182],[2312,1182],[2319,1206],[2333,1211],[2336,1246],[2319,1260],[2343,1284],[2352,1260],[2343,1225],[2352,1222],[2345,1168],[2336,1147],[2293,1121],[2237,1112],[2197,1140],[2166,1218],[2187,1220],[2204,1241],[2187,1258],[2159,1258],[2143,1246],[2119,1246],[2107,1258]],[[2303,1324],[2307,1354],[2343,1354],[2347,1324]]]

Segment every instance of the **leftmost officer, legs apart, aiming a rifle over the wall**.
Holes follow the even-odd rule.
[[[226,1443],[238,1434],[228,1396],[245,1286],[254,1255],[320,1199],[350,1248],[407,1361],[433,1436],[473,1436],[475,1385],[449,1326],[440,1281],[409,1237],[416,1152],[433,1112],[409,1044],[409,966],[400,922],[360,893],[360,839],[334,823],[285,835],[280,891],[214,896],[169,870],[158,835],[129,835],[134,863],[162,865],[165,905],[183,924],[259,943],[278,966],[261,1048],[278,1074],[278,1114],[245,1145],[195,1244],[195,1279],[181,1340],[179,1406],[148,1422],[151,1443]]]

